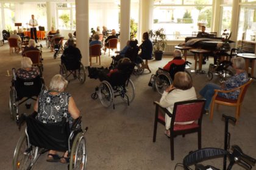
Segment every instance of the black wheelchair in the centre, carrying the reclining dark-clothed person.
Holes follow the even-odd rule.
[[[99,97],[103,106],[109,107],[113,104],[113,109],[115,109],[114,99],[120,96],[129,106],[135,98],[135,87],[132,80],[130,80],[134,66],[133,63],[127,64],[126,69],[112,73],[109,80],[102,81],[95,88],[91,98],[96,100]]]

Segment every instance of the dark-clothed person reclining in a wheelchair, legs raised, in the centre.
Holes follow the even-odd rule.
[[[135,97],[135,87],[130,80],[135,64],[129,58],[123,58],[118,61],[115,69],[97,69],[88,67],[90,78],[99,78],[101,84],[96,87],[91,98],[96,99],[99,96],[103,106],[108,107],[113,103],[114,98],[120,96],[122,100],[129,104]]]

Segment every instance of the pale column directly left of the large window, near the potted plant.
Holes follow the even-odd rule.
[[[142,39],[144,32],[148,32],[152,27],[154,1],[140,0],[140,18],[138,24],[138,38]],[[139,41],[140,42],[140,41]]]

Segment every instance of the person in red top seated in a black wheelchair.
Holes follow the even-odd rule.
[[[191,64],[182,59],[182,52],[180,50],[174,50],[173,55],[173,60],[169,61],[163,68],[159,67],[157,72],[151,75],[151,80],[149,81],[149,86],[152,86],[161,95],[172,84],[175,73],[187,72],[185,66],[186,64]]]

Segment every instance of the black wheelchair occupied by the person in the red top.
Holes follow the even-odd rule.
[[[186,61],[185,64],[182,65],[171,64],[169,72],[159,67],[155,75],[151,75],[149,86],[152,86],[153,90],[156,90],[160,95],[162,95],[165,89],[172,84],[175,73],[186,72],[190,75],[190,73],[185,69],[185,66],[189,64],[191,64],[189,61]],[[190,78],[192,80],[191,75]]]

